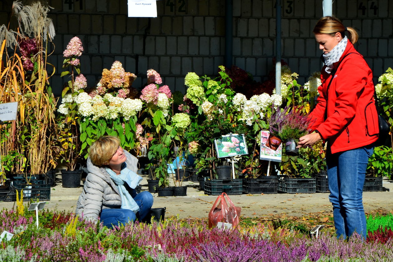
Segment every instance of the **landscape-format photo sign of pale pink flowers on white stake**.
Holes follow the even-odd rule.
[[[243,134],[227,134],[214,139],[217,158],[248,154],[246,139]]]

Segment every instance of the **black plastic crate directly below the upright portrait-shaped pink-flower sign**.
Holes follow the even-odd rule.
[[[277,194],[277,176],[260,176],[259,178],[244,178],[243,192],[247,194]]]

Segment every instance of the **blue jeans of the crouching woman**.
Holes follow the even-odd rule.
[[[103,209],[100,214],[103,225],[112,228],[113,225],[127,224],[135,221],[137,218],[142,220],[149,214],[153,205],[153,196],[149,191],[142,191],[134,197],[135,202],[139,206],[138,213],[134,213],[129,209],[110,208]]]

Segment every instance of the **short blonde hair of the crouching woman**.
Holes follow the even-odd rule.
[[[101,136],[89,148],[89,157],[98,167],[107,165],[120,146],[120,139],[114,136]]]

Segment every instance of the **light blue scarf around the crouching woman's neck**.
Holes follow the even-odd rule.
[[[139,211],[139,206],[125,188],[124,182],[126,182],[130,186],[130,188],[135,189],[142,180],[142,177],[138,176],[135,172],[129,170],[126,165],[123,165],[122,168],[123,169],[121,169],[119,175],[116,175],[116,173],[108,167],[106,167],[105,170],[107,170],[110,178],[112,178],[116,185],[118,185],[119,195],[121,198],[120,208],[130,209],[136,214]]]

